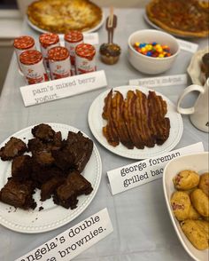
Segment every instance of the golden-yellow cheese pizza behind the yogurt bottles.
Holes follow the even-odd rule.
[[[65,34],[97,27],[102,10],[89,0],[38,0],[28,6],[27,17],[37,28]]]

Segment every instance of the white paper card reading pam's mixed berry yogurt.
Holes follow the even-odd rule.
[[[32,106],[55,99],[93,91],[107,85],[104,70],[20,87],[24,105]]]

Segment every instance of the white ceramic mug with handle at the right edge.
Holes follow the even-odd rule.
[[[194,107],[182,108],[180,105],[182,99],[191,91],[199,91],[199,95]],[[205,86],[192,84],[187,87],[180,96],[177,104],[177,111],[182,115],[190,115],[190,121],[197,129],[209,132],[209,115],[208,115],[208,99],[209,99],[209,78],[205,82]]]

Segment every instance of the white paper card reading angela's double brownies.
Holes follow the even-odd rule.
[[[107,209],[81,221],[16,261],[69,261],[112,233]]]

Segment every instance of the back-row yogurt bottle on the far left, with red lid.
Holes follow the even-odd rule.
[[[19,64],[19,70],[22,71],[20,62],[19,62],[19,55],[23,52],[23,51],[27,51],[27,50],[35,50],[35,40],[33,37],[31,36],[19,36],[17,38],[14,39],[14,51],[16,53],[17,56],[17,60],[18,60],[18,64]]]

